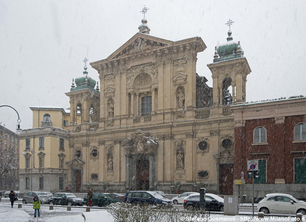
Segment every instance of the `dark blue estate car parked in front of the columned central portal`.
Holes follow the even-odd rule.
[[[135,204],[162,204],[173,206],[171,200],[153,191],[130,191],[125,194],[124,202]]]

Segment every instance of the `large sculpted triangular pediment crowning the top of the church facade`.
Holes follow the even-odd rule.
[[[136,33],[125,44],[112,53],[107,59],[118,59],[142,52],[149,52],[158,48],[173,45],[174,42],[153,37],[143,33]]]

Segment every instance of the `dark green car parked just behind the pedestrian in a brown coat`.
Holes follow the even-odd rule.
[[[94,193],[92,194],[91,206],[104,207],[111,203],[121,202],[122,198],[117,197],[112,193]],[[84,197],[84,204],[87,205],[87,198]]]

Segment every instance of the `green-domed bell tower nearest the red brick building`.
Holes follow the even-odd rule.
[[[213,63],[207,65],[213,78],[213,106],[246,101],[247,75],[251,69],[240,41],[233,41],[231,30],[227,34],[227,42],[215,47]]]

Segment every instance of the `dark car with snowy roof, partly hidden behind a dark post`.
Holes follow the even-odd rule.
[[[194,193],[185,197],[184,208],[188,210],[200,208],[200,193]],[[206,210],[210,211],[224,211],[224,199],[213,193],[205,194]]]

